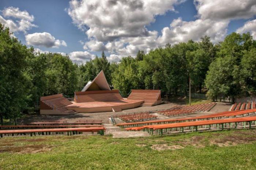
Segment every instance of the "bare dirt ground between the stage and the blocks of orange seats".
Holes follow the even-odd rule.
[[[126,113],[133,113],[133,112],[146,112],[146,111],[155,111],[155,110],[162,110],[162,109],[169,109],[172,108],[174,103],[164,103],[153,107],[138,107],[133,109],[127,109],[122,112],[96,112],[96,113],[77,113],[74,115],[30,115],[19,119],[20,123],[31,123],[37,121],[56,121],[60,119],[67,119],[67,121],[76,121],[81,119],[86,120],[102,120],[103,123],[109,123],[109,117],[111,115],[120,115]],[[217,103],[209,112],[200,112],[193,115],[184,115],[184,116],[177,116],[172,117],[172,119],[180,119],[180,118],[187,118],[187,117],[196,117],[196,116],[203,116],[203,115],[210,115],[212,113],[224,112],[228,111],[231,107],[231,104],[227,103]],[[170,119],[170,117],[163,117],[160,116],[159,119]]]

